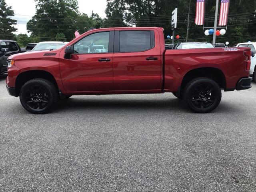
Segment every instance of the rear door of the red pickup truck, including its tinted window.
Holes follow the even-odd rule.
[[[160,90],[161,58],[157,30],[115,30],[114,90]]]

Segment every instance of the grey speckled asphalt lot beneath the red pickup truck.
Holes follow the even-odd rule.
[[[256,84],[195,114],[172,94],[72,96],[33,115],[0,76],[0,191],[256,191]]]

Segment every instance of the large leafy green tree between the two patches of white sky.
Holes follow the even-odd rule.
[[[63,33],[68,40],[74,38],[79,19],[76,0],[35,0],[36,14],[27,23],[27,30],[41,40],[54,40],[57,33]]]

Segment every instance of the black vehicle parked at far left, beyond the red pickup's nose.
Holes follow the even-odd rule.
[[[0,74],[7,72],[7,58],[21,52],[16,41],[0,40]]]

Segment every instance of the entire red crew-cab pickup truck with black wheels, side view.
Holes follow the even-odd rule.
[[[6,87],[34,114],[72,95],[164,92],[206,113],[221,90],[251,87],[250,57],[248,47],[165,50],[162,28],[94,29],[58,50],[10,56]]]

